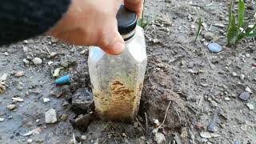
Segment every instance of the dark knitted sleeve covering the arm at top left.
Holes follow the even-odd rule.
[[[0,0],[0,46],[43,34],[71,0]]]

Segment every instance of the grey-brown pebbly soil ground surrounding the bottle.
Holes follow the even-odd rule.
[[[69,143],[73,135],[82,143],[155,143],[156,129],[166,143],[256,143],[256,111],[248,108],[248,103],[256,106],[255,43],[246,39],[225,46],[228,6],[224,0],[146,1],[148,66],[138,117],[131,123],[102,122],[94,116],[87,47],[48,36],[2,46],[0,77],[9,76],[0,94],[0,143]],[[195,42],[200,17],[204,27]],[[214,38],[204,40],[206,32]],[[218,42],[222,52],[210,52],[210,42]],[[57,55],[51,58],[52,52]],[[42,64],[22,61],[36,57]],[[54,84],[52,75],[59,67],[64,67],[61,76],[73,78],[71,85]],[[18,71],[24,76],[14,76]],[[246,87],[251,92],[244,101],[238,96]],[[14,97],[24,102],[13,102]],[[8,110],[10,104],[17,107]],[[46,124],[50,109],[56,110],[58,122]],[[34,129],[39,134],[23,136]]]

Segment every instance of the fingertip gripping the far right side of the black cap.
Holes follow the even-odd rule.
[[[126,8],[135,11],[138,18],[142,15],[143,2],[144,0],[124,0]]]

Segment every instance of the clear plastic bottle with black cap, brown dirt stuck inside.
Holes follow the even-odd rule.
[[[90,81],[99,118],[130,122],[138,113],[147,63],[146,42],[142,28],[136,25],[136,14],[121,6],[117,19],[126,48],[119,55],[106,54],[97,46],[90,49]]]

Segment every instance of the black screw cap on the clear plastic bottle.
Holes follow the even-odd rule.
[[[137,16],[133,11],[126,9],[124,5],[121,5],[118,14],[118,31],[120,34],[129,34],[136,28]]]

